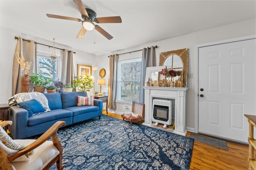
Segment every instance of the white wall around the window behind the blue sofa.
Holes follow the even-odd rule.
[[[17,43],[17,40],[14,39],[15,36],[23,37],[24,39],[32,39],[38,43],[52,46],[52,41],[38,39],[37,37],[32,37],[30,35],[20,33],[16,30],[0,27],[0,51],[2,52],[0,55],[0,104],[6,104],[8,98],[12,97],[12,65],[14,50]],[[95,55],[73,49],[68,45],[58,44],[57,42],[58,39],[55,39],[55,47],[60,49],[64,48],[68,50],[73,50],[76,52],[76,54],[73,54],[76,76],[77,64],[84,64],[90,66],[96,66],[96,64],[98,64]],[[49,50],[49,52],[51,53],[52,48],[49,48]],[[88,96],[90,95],[93,95],[93,89],[88,92]]]

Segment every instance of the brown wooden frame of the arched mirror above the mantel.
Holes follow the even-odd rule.
[[[173,51],[166,51],[160,53],[159,56],[159,66],[164,65],[164,61],[172,54],[178,55],[182,61],[183,67],[183,83],[185,87],[187,86],[187,74],[188,74],[188,49],[179,49]]]

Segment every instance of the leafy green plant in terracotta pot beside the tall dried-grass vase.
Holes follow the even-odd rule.
[[[42,74],[33,73],[30,76],[32,84],[34,84],[34,91],[44,93],[45,87],[52,82],[48,77],[43,77]]]

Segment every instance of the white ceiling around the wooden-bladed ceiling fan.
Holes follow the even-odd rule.
[[[255,0],[82,0],[97,17],[120,16],[122,23],[99,23],[114,38],[98,31],[76,35],[82,22],[46,14],[81,18],[73,0],[0,0],[0,24],[95,55],[111,53],[256,17]],[[95,42],[95,43],[94,43]],[[49,44],[51,45],[51,44]]]

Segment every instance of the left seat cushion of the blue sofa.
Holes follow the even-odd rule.
[[[54,109],[46,113],[32,115],[28,117],[28,126],[34,126],[41,123],[72,117],[72,112],[64,109]]]

